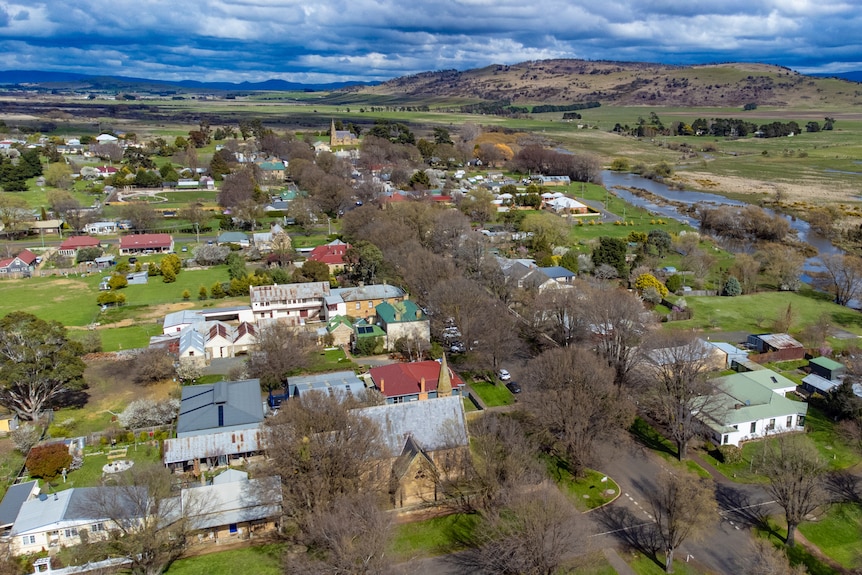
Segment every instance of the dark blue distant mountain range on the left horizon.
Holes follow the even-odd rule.
[[[126,76],[93,76],[69,72],[43,72],[40,70],[0,71],[0,85],[26,85],[43,89],[75,90],[182,90],[182,91],[322,91],[347,86],[370,86],[373,82],[332,82],[328,84],[301,84],[284,80],[263,82],[197,82],[194,80],[151,80]]]

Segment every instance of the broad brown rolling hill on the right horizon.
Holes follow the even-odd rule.
[[[442,70],[344,88],[366,97],[412,101],[508,102],[674,107],[822,107],[862,104],[862,85],[766,64],[668,66],[635,62],[543,60],[474,70]]]

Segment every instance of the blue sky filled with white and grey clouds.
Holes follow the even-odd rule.
[[[0,69],[386,80],[583,58],[862,69],[859,0],[11,0]]]

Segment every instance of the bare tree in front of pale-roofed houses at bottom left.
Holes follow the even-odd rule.
[[[171,472],[159,464],[138,463],[106,481],[80,504],[109,520],[108,548],[131,559],[133,575],[160,575],[186,548],[190,518],[207,511],[206,502],[194,490],[174,493]]]

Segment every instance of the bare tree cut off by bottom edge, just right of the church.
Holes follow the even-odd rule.
[[[550,483],[513,495],[499,513],[483,515],[455,561],[470,573],[553,575],[567,554],[588,548],[588,530]]]

